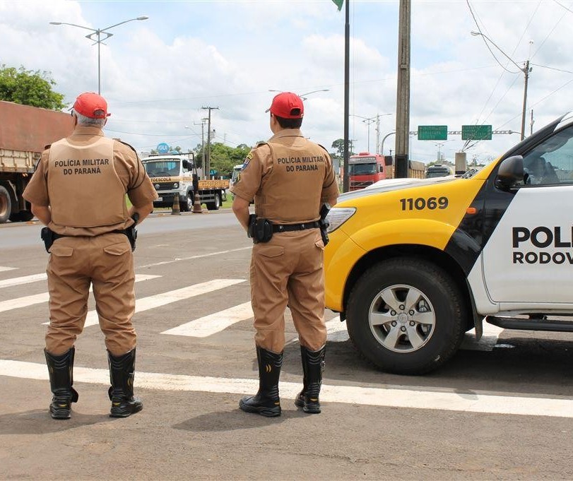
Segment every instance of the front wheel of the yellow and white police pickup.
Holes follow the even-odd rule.
[[[391,259],[350,292],[346,323],[360,354],[385,372],[424,374],[459,348],[466,309],[454,280],[423,259]]]

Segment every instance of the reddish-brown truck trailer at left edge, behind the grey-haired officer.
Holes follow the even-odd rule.
[[[0,224],[33,218],[25,186],[45,146],[72,131],[70,114],[0,100]]]

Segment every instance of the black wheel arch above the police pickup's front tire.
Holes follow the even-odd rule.
[[[453,278],[456,284],[459,285],[460,292],[464,300],[464,306],[467,309],[468,323],[471,323],[471,325],[466,326],[466,331],[473,328],[478,319],[477,314],[475,314],[475,302],[471,295],[466,275],[463,273],[463,268],[461,268],[459,263],[457,263],[456,260],[446,252],[435,247],[425,245],[395,244],[373,249],[362,256],[362,258],[360,258],[353,266],[344,286],[343,316],[345,316],[345,311],[348,308],[348,297],[350,297],[350,291],[362,274],[364,274],[374,264],[398,257],[406,257],[410,259],[418,258],[430,261],[451,275],[451,278]]]

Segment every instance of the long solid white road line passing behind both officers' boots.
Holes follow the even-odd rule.
[[[47,381],[45,364],[0,360],[0,376]],[[107,369],[73,368],[73,381],[77,383],[108,385]],[[195,391],[208,393],[246,394],[256,391],[257,379],[230,379],[221,377],[187,376],[137,372],[136,388],[160,391]],[[294,399],[300,392],[300,383],[280,381],[280,397]],[[407,386],[367,388],[322,384],[320,400],[323,403],[386,406],[392,408],[439,409],[460,412],[483,412],[505,415],[573,417],[573,400],[565,397],[508,396],[507,393],[460,393],[456,389],[436,390]]]

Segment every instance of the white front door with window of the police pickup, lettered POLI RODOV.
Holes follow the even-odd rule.
[[[524,182],[482,252],[488,293],[501,303],[573,304],[573,126],[523,157]]]

